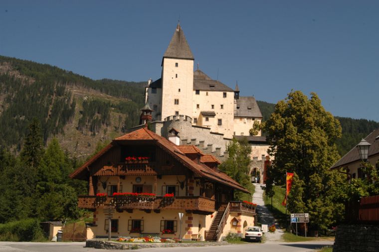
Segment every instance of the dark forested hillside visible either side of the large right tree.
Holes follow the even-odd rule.
[[[262,112],[263,121],[266,121],[275,110],[275,104],[257,101]],[[342,137],[337,140],[337,149],[341,156],[351,150],[360,140],[366,137],[374,129],[379,128],[379,123],[366,119],[352,119],[336,117],[342,127]]]

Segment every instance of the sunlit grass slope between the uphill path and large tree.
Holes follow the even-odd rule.
[[[282,206],[285,191],[286,189],[281,186],[274,186],[275,195],[272,197],[272,205],[271,198],[266,197],[266,194],[263,193],[264,205],[271,211],[282,228],[286,226],[286,207]]]

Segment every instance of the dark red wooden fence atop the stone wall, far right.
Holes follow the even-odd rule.
[[[355,224],[379,224],[379,195],[347,203],[345,219]]]

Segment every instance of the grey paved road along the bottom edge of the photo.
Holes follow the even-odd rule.
[[[226,245],[213,247],[177,247],[177,248],[151,248],[141,249],[141,252],[251,252],[259,250],[264,252],[308,252],[320,249],[324,246],[332,245],[333,242],[305,242],[305,243],[284,243],[284,242],[266,242],[251,243],[243,245]],[[107,250],[98,250],[84,248],[85,243],[14,243],[0,242],[0,252],[104,252]],[[112,252],[112,251],[108,251]],[[115,251],[113,251],[115,252]]]

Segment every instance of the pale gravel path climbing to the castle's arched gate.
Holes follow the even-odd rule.
[[[284,229],[279,229],[279,224],[277,220],[275,220],[274,216],[264,205],[263,201],[263,189],[261,186],[265,186],[265,184],[253,184],[255,186],[255,192],[253,194],[252,202],[258,204],[257,206],[257,216],[258,222],[260,224],[267,224],[269,227],[275,224],[276,231],[274,233],[267,232],[265,233],[266,241],[282,241],[281,237],[284,233]]]

